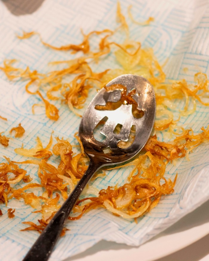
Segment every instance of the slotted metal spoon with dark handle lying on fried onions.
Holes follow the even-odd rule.
[[[145,145],[153,128],[156,102],[153,87],[143,77],[125,74],[121,75],[106,86],[121,84],[127,88],[127,93],[135,90],[132,98],[137,102],[139,117],[132,113],[132,104],[122,104],[116,110],[98,110],[98,105],[105,106],[108,102],[120,101],[121,90],[106,91],[102,88],[90,102],[82,117],[79,127],[79,137],[83,143],[84,152],[90,159],[89,167],[73,192],[54,215],[50,223],[36,240],[23,261],[48,260],[67,218],[93,174],[102,166],[125,162],[133,158]],[[140,114],[140,113],[139,113]],[[106,120],[101,133],[105,140],[94,138],[94,129],[101,121]],[[118,125],[119,124],[119,125]],[[115,131],[116,126],[119,131]],[[131,127],[135,126],[135,138],[128,147],[119,147],[119,141],[127,141]],[[119,132],[119,133],[118,133]]]

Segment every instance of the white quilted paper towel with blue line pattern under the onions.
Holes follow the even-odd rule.
[[[132,13],[137,21],[145,21],[149,16],[155,18],[149,26],[130,25],[130,35],[132,39],[140,41],[143,47],[152,47],[160,63],[167,61],[164,68],[167,78],[184,78],[193,82],[196,72],[209,74],[208,1],[120,2],[124,12],[130,4],[133,5]],[[116,1],[113,0],[45,0],[35,12],[27,15],[25,13],[28,8],[26,1],[19,6],[10,1],[9,8],[5,6],[4,1],[0,2],[1,62],[5,58],[17,59],[19,66],[28,65],[31,70],[46,72],[49,61],[67,60],[72,57],[67,52],[45,48],[36,36],[24,41],[17,39],[16,34],[21,34],[22,30],[38,31],[47,43],[61,46],[80,43],[80,28],[87,33],[116,27]],[[33,10],[33,6],[30,6],[29,10]],[[18,16],[15,13],[22,15]],[[110,59],[104,61],[103,65],[98,65],[96,70],[116,67],[115,61]],[[184,68],[188,68],[187,73],[184,72]],[[61,106],[58,102],[55,104],[60,110],[57,122],[49,120],[41,108],[37,108],[36,114],[33,115],[31,106],[39,103],[40,99],[28,95],[24,85],[21,81],[9,82],[4,73],[0,72],[0,115],[8,119],[7,122],[1,121],[0,131],[5,131],[7,135],[9,130],[20,122],[26,130],[23,138],[13,138],[7,149],[1,148],[1,155],[12,160],[23,160],[23,157],[15,154],[14,149],[21,147],[22,142],[24,147],[32,148],[37,136],[46,145],[52,130],[54,137],[59,135],[75,143],[73,135],[78,131],[80,118],[70,112],[67,106]],[[94,95],[95,90],[91,90],[88,102]],[[196,114],[181,119],[184,127],[192,127],[195,132],[202,126],[206,127],[208,123],[209,110],[200,104],[197,104]],[[189,162],[182,159],[176,166],[168,166],[167,178],[173,179],[173,174],[178,172],[175,192],[163,198],[155,209],[139,219],[138,224],[113,216],[104,209],[93,210],[80,220],[68,223],[70,231],[59,240],[50,260],[64,260],[102,239],[132,246],[140,245],[205,202],[209,199],[209,159],[205,157],[208,149],[208,145],[203,145],[190,155]],[[5,160],[1,157],[1,162],[3,161]],[[56,159],[52,159],[52,162],[56,163]],[[36,181],[36,167],[27,166],[27,170]],[[124,172],[111,171],[105,178],[96,179],[93,186],[102,189],[117,183],[122,184],[128,173],[128,169]],[[10,207],[16,209],[14,219],[8,219],[5,214]],[[1,209],[4,214],[0,217],[2,261],[21,260],[38,237],[36,232],[20,232],[20,229],[25,228],[22,222],[36,222],[39,214],[31,213],[30,207],[17,200],[9,202],[7,207]]]

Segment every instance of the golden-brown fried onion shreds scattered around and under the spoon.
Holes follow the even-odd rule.
[[[140,25],[148,25],[154,20],[148,18],[144,23],[136,22],[130,13],[130,8],[129,17],[132,22]],[[18,36],[19,39],[39,37],[46,48],[53,50],[80,52],[79,58],[50,62],[51,66],[63,65],[62,69],[54,69],[45,74],[31,70],[29,67],[18,68],[15,66],[16,60],[5,60],[3,66],[0,67],[9,80],[21,79],[27,81],[25,85],[26,92],[30,95],[39,96],[43,102],[42,104],[34,104],[33,112],[35,113],[35,106],[42,105],[45,107],[46,116],[54,121],[59,118],[59,110],[53,104],[55,101],[64,102],[71,111],[81,116],[77,109],[84,106],[89,90],[93,87],[100,89],[107,82],[121,74],[128,73],[144,76],[154,87],[157,104],[154,132],[160,131],[163,134],[163,131],[166,130],[170,132],[173,138],[169,142],[162,142],[154,134],[149,138],[144,150],[135,160],[116,167],[132,167],[124,185],[109,186],[100,191],[92,186],[87,186],[84,191],[89,196],[77,202],[73,209],[74,213],[71,213],[71,220],[80,218],[84,212],[91,209],[103,207],[114,215],[137,221],[138,217],[155,207],[162,196],[173,193],[177,174],[173,176],[172,180],[166,179],[164,177],[166,165],[182,157],[189,160],[189,153],[201,143],[209,141],[209,126],[202,127],[202,132],[199,134],[194,134],[191,129],[178,126],[180,117],[196,111],[196,104],[209,105],[208,78],[206,74],[195,74],[195,84],[189,84],[184,79],[181,81],[165,81],[165,73],[154,56],[153,50],[151,48],[143,49],[140,42],[130,39],[128,23],[121,12],[119,3],[116,18],[119,26],[115,30],[104,29],[90,32],[87,35],[82,32],[83,41],[78,45],[53,46],[46,43],[38,32],[23,32],[23,35]],[[116,33],[124,34],[124,32],[126,37],[123,43],[112,40],[111,37]],[[90,45],[91,37],[99,37],[99,44],[95,49]],[[102,59],[107,58],[108,55],[115,57],[119,65],[118,69],[107,68],[99,73],[94,72],[90,65],[102,63]],[[72,79],[67,80],[67,76],[71,76]],[[134,104],[134,100],[131,95],[126,94],[125,89],[124,93],[125,100],[129,99],[129,103]],[[182,102],[183,109],[178,110],[175,108],[174,102],[176,100]],[[173,108],[175,109],[175,115]],[[107,106],[105,109],[110,108]],[[0,118],[6,120],[1,116]],[[16,128],[11,129],[11,132],[13,130],[16,131]],[[132,134],[134,135],[134,132]],[[35,212],[42,214],[38,225],[33,222],[24,222],[28,226],[24,230],[42,232],[59,209],[62,201],[67,199],[69,193],[87,170],[88,159],[84,154],[81,141],[78,136],[75,137],[81,147],[80,153],[74,153],[69,141],[59,137],[55,138],[56,144],[53,146],[51,135],[45,148],[39,137],[37,137],[37,146],[35,148],[25,149],[22,147],[15,149],[17,154],[28,157],[24,161],[12,162],[6,158],[7,162],[0,164],[1,203],[7,205],[10,199],[23,199],[25,204],[29,204],[36,210]],[[130,142],[132,142],[131,140],[133,141],[133,137],[130,137]],[[8,146],[7,137],[0,135],[0,142],[4,146]],[[57,166],[49,163],[52,155],[59,160]],[[26,175],[25,168],[19,167],[20,164],[26,165],[25,168],[27,168],[27,164],[37,166],[39,183],[33,182],[33,178]],[[99,176],[104,176],[104,170],[93,179]],[[21,188],[15,189],[14,185],[20,182],[27,183],[27,185],[21,184]],[[39,195],[41,196],[37,196],[33,192],[34,189],[40,190],[41,194]],[[10,217],[13,217],[12,214],[11,212]],[[0,215],[2,215],[1,210]],[[63,230],[63,235],[65,231],[66,229]]]

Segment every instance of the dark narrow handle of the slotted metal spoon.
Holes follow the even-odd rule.
[[[54,215],[49,224],[45,227],[42,234],[33,244],[27,255],[22,261],[47,261],[50,254],[62,232],[63,226],[72,210],[74,204],[79,198],[82,190],[93,174],[102,166],[100,162],[90,160],[86,173],[82,176],[73,192],[64,202],[59,211]]]

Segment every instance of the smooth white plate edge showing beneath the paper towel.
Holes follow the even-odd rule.
[[[127,261],[130,258],[131,260],[153,261],[183,249],[209,234],[208,217],[209,201],[142,246],[130,247],[125,244],[102,240],[87,251],[66,259],[65,261]],[[205,240],[207,241],[208,239],[206,238]],[[191,247],[191,249],[192,248],[193,247]],[[195,251],[198,250],[195,249]],[[199,251],[201,251],[199,254],[200,257],[202,257],[202,250],[199,249]],[[209,254],[209,250],[207,251],[206,254]],[[193,253],[191,253],[191,255],[192,254]],[[179,259],[169,257],[169,259],[166,260]],[[191,258],[185,260],[191,261]]]

